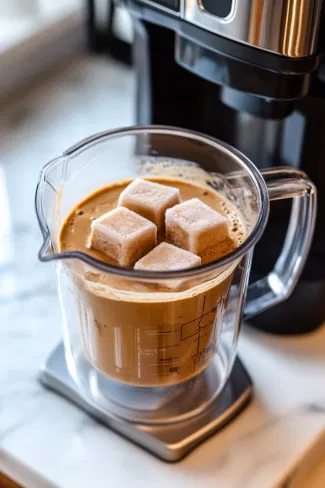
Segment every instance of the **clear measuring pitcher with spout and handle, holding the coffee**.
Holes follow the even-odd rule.
[[[71,249],[67,215],[101,187],[136,177],[177,178],[221,194],[242,217],[242,242],[217,261],[180,271],[139,271]],[[274,270],[249,284],[269,201],[293,199]],[[36,212],[42,261],[55,260],[69,373],[105,411],[142,423],[203,411],[232,370],[242,318],[285,300],[308,255],[316,190],[301,171],[258,169],[227,144],[171,127],[133,127],[81,141],[40,174]]]

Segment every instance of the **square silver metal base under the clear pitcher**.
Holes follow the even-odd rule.
[[[228,424],[252,397],[252,382],[237,358],[221,394],[201,414],[173,424],[145,425],[128,422],[105,412],[80,395],[69,375],[60,343],[41,369],[44,385],[65,396],[100,422],[165,461],[178,461],[194,447]]]

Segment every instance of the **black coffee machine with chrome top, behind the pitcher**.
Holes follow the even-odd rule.
[[[251,321],[278,334],[314,330],[325,321],[325,1],[122,4],[134,19],[137,123],[209,134],[259,168],[300,168],[317,185],[316,234],[300,282],[289,300]],[[255,250],[254,281],[279,254],[288,205],[271,205]]]

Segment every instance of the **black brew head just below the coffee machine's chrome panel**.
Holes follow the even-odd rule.
[[[306,96],[319,68],[320,53],[305,58],[279,56],[213,34],[144,3],[127,0],[127,6],[139,19],[174,31],[176,62],[234,90],[232,95],[227,92],[224,102],[237,110],[264,118],[285,117],[294,108],[292,102]]]

